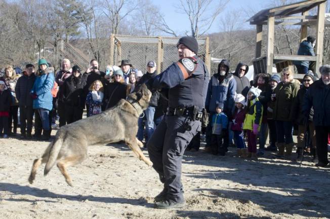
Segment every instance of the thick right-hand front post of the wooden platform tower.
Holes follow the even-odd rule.
[[[317,30],[316,30],[316,66],[315,71],[318,72],[319,67],[322,65],[323,59],[323,35],[324,35],[324,14],[325,4],[319,4],[317,8]]]

